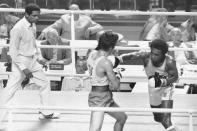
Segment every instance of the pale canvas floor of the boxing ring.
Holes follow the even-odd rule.
[[[27,97],[28,96],[28,97]],[[37,91],[18,91],[14,97],[9,115],[5,123],[14,131],[54,131],[67,129],[69,131],[87,131],[90,111],[125,111],[128,115],[125,131],[164,131],[162,126],[154,122],[152,111],[172,112],[172,120],[183,131],[197,129],[197,103],[195,95],[175,95],[174,109],[150,109],[148,94],[144,93],[114,93],[114,99],[120,108],[89,108],[88,92],[62,91],[50,93],[51,106],[42,107]],[[31,101],[31,102],[30,102]],[[183,104],[185,103],[185,104]],[[180,109],[181,108],[181,109]],[[193,108],[193,109],[192,109]],[[40,109],[61,112],[59,119],[39,120]],[[105,116],[102,131],[112,131],[114,119]]]

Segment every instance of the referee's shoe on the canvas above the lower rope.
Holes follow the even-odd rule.
[[[60,113],[59,112],[53,112],[53,113],[44,113],[42,111],[39,111],[39,119],[59,119]]]

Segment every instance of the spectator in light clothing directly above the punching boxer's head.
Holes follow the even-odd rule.
[[[155,8],[153,12],[167,12],[165,8]],[[168,23],[167,16],[152,15],[145,23],[139,40],[148,40],[152,41],[154,39],[162,39],[165,41],[170,40],[169,32],[173,29]]]

